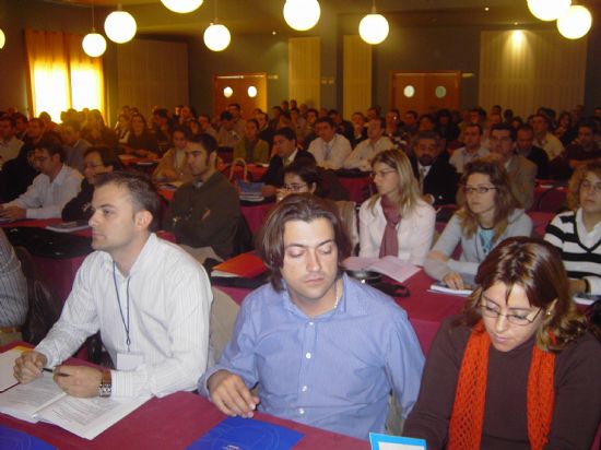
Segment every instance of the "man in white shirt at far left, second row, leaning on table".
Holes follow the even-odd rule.
[[[42,140],[34,159],[40,174],[25,193],[0,205],[0,217],[9,221],[60,217],[62,208],[80,191],[83,177],[64,164],[64,151],[58,140]]]

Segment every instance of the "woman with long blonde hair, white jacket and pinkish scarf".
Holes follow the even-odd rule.
[[[432,245],[436,213],[421,199],[411,163],[387,150],[372,161],[378,193],[361,205],[360,257],[394,256],[423,265]]]

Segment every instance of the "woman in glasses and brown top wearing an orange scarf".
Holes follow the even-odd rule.
[[[601,345],[556,249],[509,238],[475,283],[434,339],[403,435],[428,450],[588,450],[601,418]]]

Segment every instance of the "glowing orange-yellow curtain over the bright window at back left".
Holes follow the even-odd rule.
[[[34,116],[47,111],[60,121],[60,112],[69,108],[104,115],[103,61],[83,52],[82,39],[79,34],[25,31]]]

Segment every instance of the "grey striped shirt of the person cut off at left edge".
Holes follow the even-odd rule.
[[[27,282],[14,249],[0,228],[0,327],[20,327],[27,316]]]

